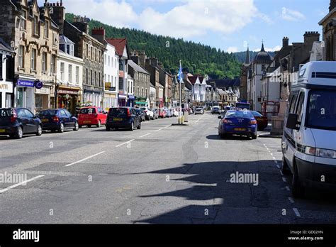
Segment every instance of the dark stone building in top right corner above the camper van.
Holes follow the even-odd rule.
[[[323,60],[336,61],[336,0],[330,0],[329,13],[318,24],[323,27]]]

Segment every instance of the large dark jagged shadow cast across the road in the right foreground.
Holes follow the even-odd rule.
[[[281,161],[278,160],[280,163]],[[258,174],[258,185],[253,182],[230,182],[231,175],[239,173]],[[277,207],[291,207],[288,197],[291,192],[279,192],[279,187],[285,187],[278,168],[274,167],[274,160],[257,160],[242,162],[208,162],[186,163],[178,168],[155,170],[146,172],[151,174],[185,175],[179,179],[171,178],[174,185],[169,191],[158,194],[142,194],[139,197],[149,199],[162,197],[159,202],[167,204],[165,208],[172,208],[169,202],[182,202],[184,207],[174,207],[167,213],[152,216],[148,219],[134,221],[134,223],[150,224],[288,224],[293,223],[289,218],[269,216],[264,219],[262,209],[271,210]],[[190,203],[186,205],[186,200]],[[155,201],[157,201],[155,199]],[[333,200],[323,194],[315,194],[309,199],[301,199],[319,211],[335,209],[336,198]],[[161,204],[161,203],[160,203]],[[225,207],[223,207],[225,204]],[[279,206],[281,204],[281,206]],[[284,205],[284,206],[282,206]],[[177,209],[175,209],[177,208]],[[257,209],[259,208],[259,209]],[[224,212],[223,212],[224,210]],[[334,211],[335,212],[335,211]],[[144,214],[146,215],[146,214]],[[153,213],[149,214],[153,215]],[[309,219],[307,219],[309,220]],[[335,219],[313,220],[310,223],[335,223]],[[307,222],[309,223],[309,222]]]

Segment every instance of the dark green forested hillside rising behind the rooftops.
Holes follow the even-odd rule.
[[[67,13],[66,19],[72,22],[74,14]],[[233,54],[183,39],[162,35],[153,35],[145,31],[130,28],[115,28],[99,21],[90,20],[92,28],[103,26],[106,38],[127,38],[130,50],[145,50],[146,55],[157,57],[164,68],[177,74],[179,60],[182,67],[193,74],[208,75],[213,79],[240,76],[240,62]]]

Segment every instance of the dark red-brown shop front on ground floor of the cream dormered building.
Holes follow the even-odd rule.
[[[76,114],[76,108],[81,102],[80,87],[60,86],[57,89],[57,108],[67,109]]]

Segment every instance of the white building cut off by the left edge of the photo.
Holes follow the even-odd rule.
[[[13,75],[7,74],[13,50],[0,38],[0,108],[13,106]]]

